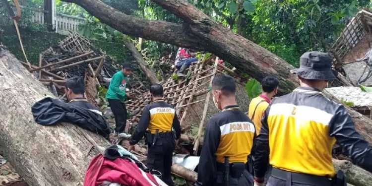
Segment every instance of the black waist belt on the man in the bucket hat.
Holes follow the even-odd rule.
[[[332,181],[324,176],[293,173],[274,167],[272,168],[271,176],[280,180],[286,180],[286,186],[291,186],[292,183],[311,186],[332,186]]]

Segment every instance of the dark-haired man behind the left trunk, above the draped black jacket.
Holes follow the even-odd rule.
[[[84,98],[85,82],[83,78],[74,76],[67,79],[65,84],[65,92],[69,104],[82,107],[102,116],[102,113],[99,111],[99,109],[93,104],[89,103],[86,98]]]

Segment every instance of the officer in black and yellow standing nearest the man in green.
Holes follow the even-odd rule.
[[[130,140],[129,150],[146,134],[148,145],[147,167],[161,173],[161,179],[174,186],[171,178],[172,155],[176,140],[181,136],[181,126],[173,106],[163,101],[163,87],[159,84],[150,87],[152,103],[142,112],[137,128]],[[175,135],[172,132],[175,130]],[[147,131],[146,131],[147,130]]]

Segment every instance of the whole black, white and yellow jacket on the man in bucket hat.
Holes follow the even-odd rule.
[[[299,87],[274,99],[265,111],[254,145],[255,176],[264,177],[269,159],[278,169],[333,177],[336,141],[353,163],[372,172],[371,147],[355,130],[346,109],[317,89]]]

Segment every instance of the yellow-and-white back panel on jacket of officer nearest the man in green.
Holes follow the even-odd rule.
[[[148,126],[151,133],[155,133],[156,129],[159,132],[171,131],[173,119],[175,117],[175,109],[166,108],[153,108],[150,109],[150,124]]]

